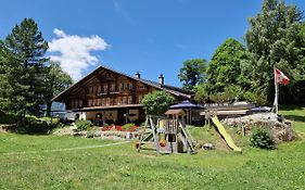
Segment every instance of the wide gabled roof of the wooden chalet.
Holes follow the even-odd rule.
[[[71,86],[69,88],[67,88],[66,90],[64,90],[63,92],[61,92],[60,94],[58,94],[56,97],[54,97],[52,99],[52,101],[60,101],[62,100],[62,98],[68,93],[69,91],[72,91],[73,89],[79,87],[81,84],[86,83],[87,80],[89,80],[90,78],[94,77],[99,72],[101,72],[102,69],[106,69],[106,71],[110,71],[112,73],[116,73],[118,75],[123,75],[123,76],[126,76],[128,78],[131,78],[134,80],[137,80],[137,81],[140,81],[140,83],[143,83],[145,85],[149,85],[149,86],[152,86],[156,89],[160,89],[160,90],[164,90],[164,91],[167,91],[168,93],[171,93],[174,96],[177,96],[177,97],[183,97],[186,99],[191,99],[191,97],[194,94],[193,91],[191,90],[186,90],[186,89],[182,89],[182,88],[178,88],[178,87],[174,87],[174,86],[169,86],[169,85],[162,85],[162,84],[158,84],[158,83],[155,83],[155,81],[151,81],[151,80],[147,80],[147,79],[142,79],[142,78],[138,78],[138,77],[135,77],[135,76],[130,76],[130,75],[127,75],[125,73],[122,73],[122,72],[118,72],[118,71],[115,71],[115,69],[112,69],[110,67],[106,67],[106,66],[100,66],[98,67],[97,69],[94,69],[93,72],[91,72],[90,74],[88,74],[86,77],[84,77],[82,79],[80,79],[79,81],[77,81],[76,84],[74,84],[73,86]]]

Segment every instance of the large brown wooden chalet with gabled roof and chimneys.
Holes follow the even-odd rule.
[[[173,94],[177,102],[194,96],[193,91],[165,85],[163,75],[160,75],[158,83],[154,83],[142,79],[139,72],[129,76],[100,66],[53,101],[65,103],[66,110],[75,112],[81,119],[123,125],[144,121],[141,101],[155,90]]]

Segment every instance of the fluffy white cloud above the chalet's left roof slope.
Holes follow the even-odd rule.
[[[109,45],[99,36],[81,37],[66,35],[62,29],[53,30],[56,38],[49,42],[51,60],[61,63],[63,71],[67,72],[75,81],[82,77],[82,72],[90,65],[96,65],[99,58],[91,51],[103,51]],[[53,53],[60,53],[53,54]]]

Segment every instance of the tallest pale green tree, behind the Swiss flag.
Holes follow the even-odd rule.
[[[302,12],[283,1],[265,0],[262,12],[250,18],[245,40],[250,59],[243,65],[244,75],[252,88],[262,88],[272,97],[274,66],[282,69],[292,80],[304,74],[304,35],[301,27]],[[303,60],[304,61],[304,60]]]

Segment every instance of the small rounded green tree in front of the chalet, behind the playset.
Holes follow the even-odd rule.
[[[175,101],[174,97],[165,91],[148,93],[143,100],[143,109],[149,115],[164,115],[169,105]]]

